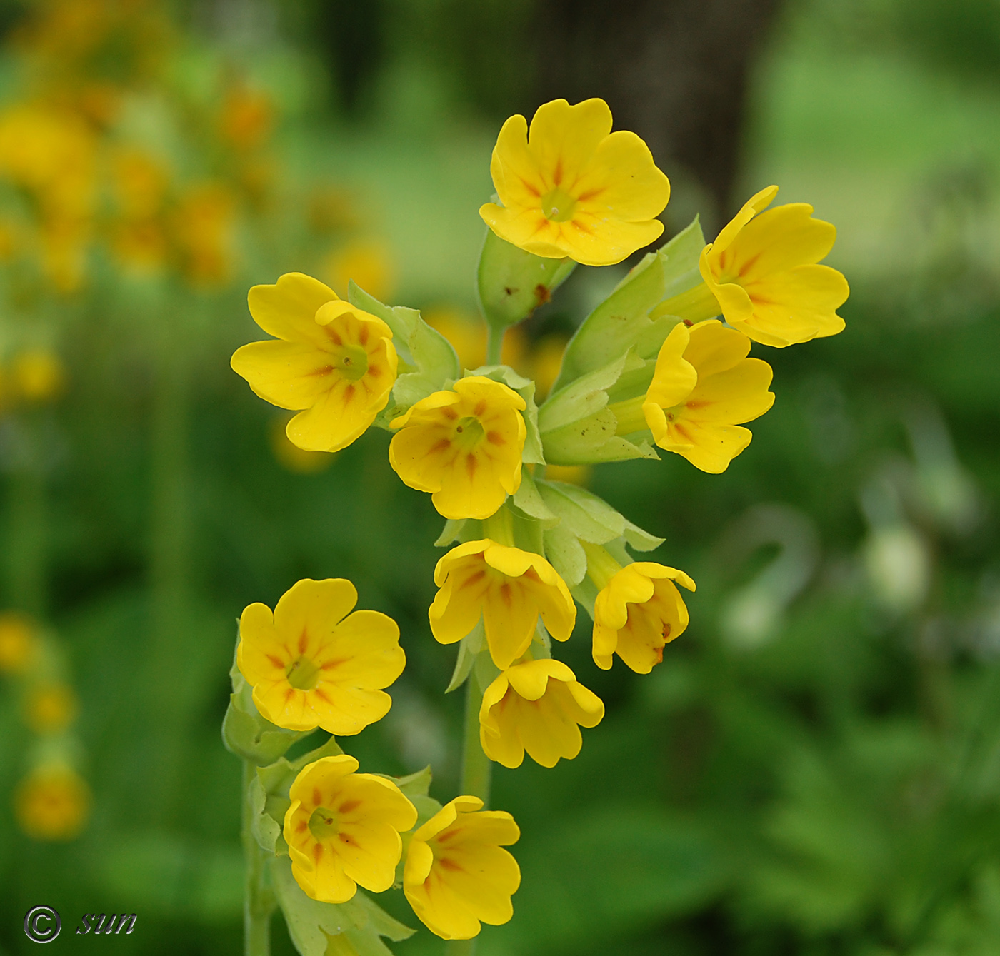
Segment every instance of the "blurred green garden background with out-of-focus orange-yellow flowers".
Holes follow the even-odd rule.
[[[557,96],[649,142],[668,235],[772,182],[814,204],[852,295],[766,350],[724,475],[574,476],[698,592],[647,677],[598,671],[589,621],[560,648],[607,717],[497,768],[524,881],[483,956],[1000,952],[996,0],[4,0],[0,33],[0,952],[38,903],[60,951],[95,910],[139,919],[90,948],[240,951],[235,618],[301,577],[402,628],[362,769],[454,795],[440,519],[385,433],[298,452],[228,358],[247,288],[301,270],[478,364],[490,149]],[[544,387],[625,268],[578,269],[510,361]]]

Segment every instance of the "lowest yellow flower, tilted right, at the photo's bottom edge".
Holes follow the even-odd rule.
[[[442,939],[471,939],[506,923],[521,885],[517,861],[502,847],[521,836],[502,810],[482,810],[478,797],[445,804],[410,842],[403,892],[420,921]]]

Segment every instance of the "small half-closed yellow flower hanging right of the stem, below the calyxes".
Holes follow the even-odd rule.
[[[648,674],[663,660],[664,645],[688,626],[687,607],[675,581],[695,589],[683,571],[653,561],[636,561],[611,576],[594,602],[593,655],[598,667],[608,670],[617,654],[637,674]]]

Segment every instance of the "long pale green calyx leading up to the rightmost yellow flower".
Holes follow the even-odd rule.
[[[677,319],[673,316],[651,319],[649,313],[664,299],[702,281],[698,259],[704,247],[705,237],[696,216],[683,232],[646,255],[583,320],[566,346],[553,391],[565,388],[629,349],[634,348],[643,359],[655,356]]]

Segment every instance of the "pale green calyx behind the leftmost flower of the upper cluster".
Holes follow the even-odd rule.
[[[351,305],[377,316],[392,329],[392,344],[405,369],[396,378],[389,405],[379,412],[374,424],[388,428],[389,422],[411,405],[440,391],[449,379],[462,374],[451,342],[429,326],[417,309],[387,306],[370,296],[352,280],[347,297]]]

